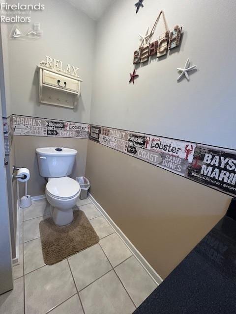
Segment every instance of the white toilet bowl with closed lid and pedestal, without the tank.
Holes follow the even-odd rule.
[[[70,224],[73,207],[80,196],[80,184],[69,177],[49,178],[46,185],[46,198],[51,205],[54,222],[59,226]]]

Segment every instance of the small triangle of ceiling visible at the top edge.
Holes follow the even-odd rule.
[[[67,0],[93,20],[99,20],[106,8],[115,0]]]

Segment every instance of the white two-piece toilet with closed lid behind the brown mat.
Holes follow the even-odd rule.
[[[58,226],[70,224],[73,207],[80,196],[80,184],[68,177],[72,173],[77,151],[63,147],[36,149],[40,176],[46,178],[46,198],[51,205],[53,220]]]

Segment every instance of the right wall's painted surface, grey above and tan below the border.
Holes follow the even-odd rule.
[[[230,29],[236,1],[146,2],[135,14],[133,0],[115,1],[97,23],[90,123],[235,149],[236,35]],[[161,10],[170,30],[182,26],[181,46],[137,65],[139,78],[129,84],[139,33],[152,28]],[[164,30],[161,18],[152,41]],[[231,49],[224,48],[228,42]],[[197,70],[190,81],[177,82],[177,67],[188,57]],[[230,202],[221,192],[91,141],[86,176],[94,198],[163,278]]]

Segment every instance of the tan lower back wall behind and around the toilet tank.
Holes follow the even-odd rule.
[[[15,138],[15,156],[17,166],[26,167],[30,171],[28,193],[31,196],[45,194],[46,181],[39,175],[37,157],[35,149],[38,147],[69,147],[78,151],[74,165],[72,178],[83,176],[85,174],[87,139],[73,138],[54,138],[40,136],[14,136]],[[23,195],[24,184],[20,183],[20,196]]]

